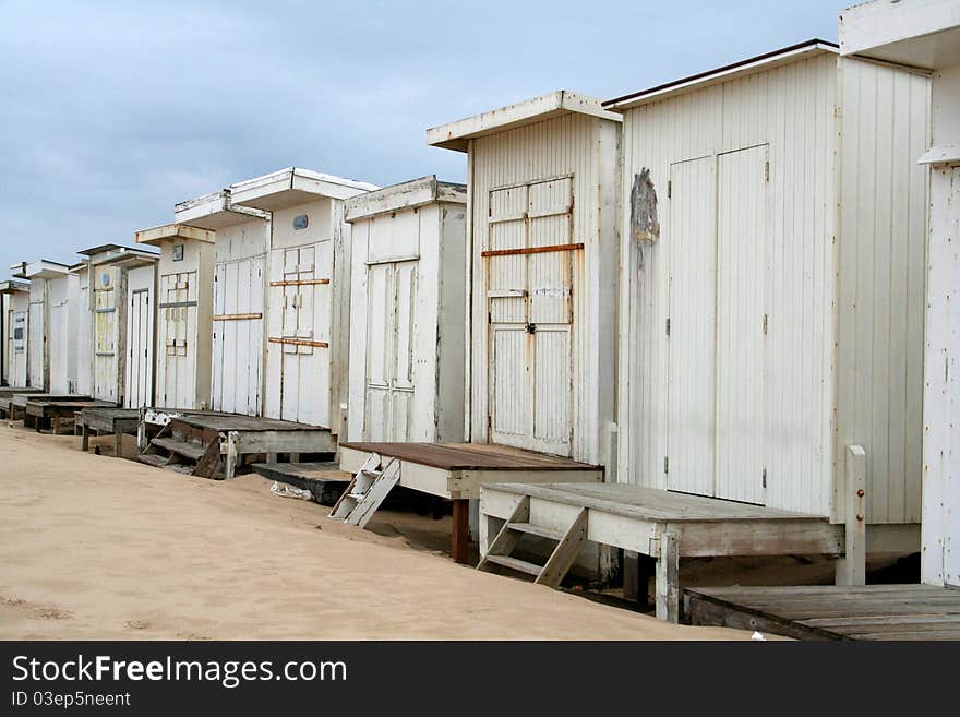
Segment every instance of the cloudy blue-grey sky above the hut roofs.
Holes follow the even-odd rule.
[[[852,0],[0,0],[0,279],[289,166],[463,181],[425,130],[837,39]]]

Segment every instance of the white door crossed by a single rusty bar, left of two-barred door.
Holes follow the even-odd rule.
[[[260,415],[263,260],[218,262],[214,270],[213,410]]]

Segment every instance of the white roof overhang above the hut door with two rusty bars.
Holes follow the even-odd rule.
[[[380,188],[310,169],[288,167],[231,184],[230,198],[233,204],[273,212],[315,202],[321,196],[346,200],[375,189]]]

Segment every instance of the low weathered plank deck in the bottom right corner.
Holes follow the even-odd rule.
[[[933,585],[684,590],[684,621],[800,640],[960,640],[960,588]]]

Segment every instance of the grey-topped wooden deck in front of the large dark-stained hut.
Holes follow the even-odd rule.
[[[843,526],[819,515],[611,483],[496,482],[481,492],[481,554],[518,511],[560,533],[585,513],[588,540],[657,560],[657,616],[674,622],[681,558],[843,552]]]

